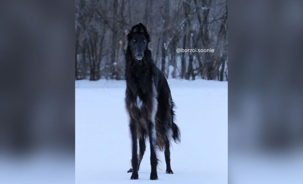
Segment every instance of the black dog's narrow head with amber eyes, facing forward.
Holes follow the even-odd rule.
[[[130,46],[133,58],[142,60],[145,51],[148,49],[148,43],[150,42],[146,27],[142,23],[132,26],[132,29],[127,35],[127,42]]]

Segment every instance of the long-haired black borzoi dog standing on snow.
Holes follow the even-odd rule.
[[[158,179],[157,149],[165,149],[166,173],[173,174],[169,151],[171,137],[180,142],[180,130],[174,123],[171,92],[163,73],[151,58],[149,43],[149,34],[142,23],[133,26],[127,35],[125,103],[132,138],[132,169],[128,171],[132,172],[131,179],[138,179],[147,137],[151,150],[151,180]]]

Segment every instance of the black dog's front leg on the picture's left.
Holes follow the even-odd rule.
[[[132,176],[131,179],[138,179],[138,135],[137,122],[132,119],[129,128],[132,136]]]

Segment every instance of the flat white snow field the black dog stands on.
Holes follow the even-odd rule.
[[[176,104],[175,123],[181,143],[172,143],[166,174],[164,152],[158,180],[150,180],[149,142],[138,172],[131,180],[131,140],[125,110],[125,80],[75,82],[76,183],[199,183],[228,182],[228,83],[169,79]]]

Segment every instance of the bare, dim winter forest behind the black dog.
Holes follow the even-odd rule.
[[[76,80],[124,79],[125,35],[139,22],[166,78],[228,80],[226,0],[75,0],[75,8]]]

